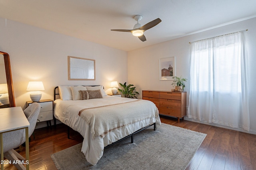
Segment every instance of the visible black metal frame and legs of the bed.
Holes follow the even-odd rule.
[[[99,85],[96,85],[96,86],[99,86]],[[104,87],[103,87],[103,88],[104,88]],[[57,96],[57,95],[60,95],[59,92],[56,92],[57,89],[58,89],[58,86],[54,88],[54,101],[56,100],[56,96]],[[54,117],[54,126],[56,127],[56,118],[55,118],[55,117]],[[140,132],[140,131],[143,131],[144,129],[147,129],[148,127],[151,127],[151,126],[154,126],[154,131],[155,131],[155,130],[156,130],[156,123],[153,123],[153,124],[148,125],[148,126],[146,126],[146,127],[142,127],[142,128],[139,129],[138,131],[135,131],[134,133],[132,133],[132,134],[130,134],[130,135],[128,135],[128,136],[126,136],[126,137],[124,137],[124,138],[122,138],[122,139],[119,139],[119,140],[116,141],[116,142],[113,142],[113,143],[109,144],[108,146],[104,147],[104,149],[106,149],[106,148],[108,148],[108,147],[110,147],[110,146],[112,146],[112,145],[115,145],[116,143],[118,143],[118,142],[120,142],[120,141],[122,141],[122,140],[124,140],[124,139],[126,139],[126,138],[128,138],[128,137],[131,137],[131,143],[133,143],[133,138],[134,138],[134,135],[135,135],[136,133],[138,133],[138,132]],[[68,126],[68,139],[70,139],[70,127],[69,127],[69,126]]]

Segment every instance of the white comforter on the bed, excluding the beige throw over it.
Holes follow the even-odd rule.
[[[84,137],[81,151],[84,153],[86,160],[90,164],[96,165],[98,160],[100,160],[103,155],[104,147],[107,145],[118,141],[119,139],[122,139],[123,137],[126,137],[127,135],[130,135],[131,133],[149,124],[157,123],[157,125],[160,125],[161,121],[158,116],[158,109],[154,103],[151,102],[151,104],[154,105],[153,112],[157,116],[149,117],[131,123],[125,127],[117,128],[114,131],[110,131],[103,137],[94,137],[94,135],[91,133],[90,125],[78,115],[79,111],[91,107],[114,105],[135,100],[137,99],[120,98],[114,96],[106,96],[103,99],[90,100],[55,100],[54,115],[58,120],[70,126],[75,131],[78,131]]]

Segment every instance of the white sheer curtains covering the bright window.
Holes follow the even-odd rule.
[[[250,130],[244,32],[191,43],[189,118]]]

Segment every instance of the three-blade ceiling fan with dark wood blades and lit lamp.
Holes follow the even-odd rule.
[[[141,24],[139,23],[141,19],[142,16],[140,15],[136,15],[134,17],[134,20],[137,21],[137,23],[134,25],[133,29],[111,29],[111,31],[131,32],[132,35],[138,37],[141,41],[146,41],[144,31],[156,26],[162,20],[160,20],[160,18],[157,18],[156,20],[150,21],[149,23],[146,23],[145,25],[141,26]]]

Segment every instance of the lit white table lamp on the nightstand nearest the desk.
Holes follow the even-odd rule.
[[[42,93],[40,91],[44,90],[44,84],[41,81],[29,81],[28,88],[26,91],[32,91],[30,93],[30,98],[33,102],[38,102],[41,99]]]

